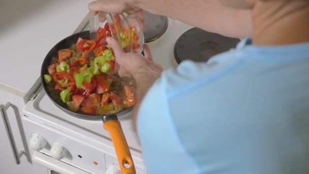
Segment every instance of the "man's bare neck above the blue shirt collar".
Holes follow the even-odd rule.
[[[259,1],[252,18],[254,45],[309,42],[309,1]]]

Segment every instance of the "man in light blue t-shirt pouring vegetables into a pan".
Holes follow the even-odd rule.
[[[147,170],[309,173],[309,1],[220,2],[239,11],[198,0],[89,5],[91,11],[118,13],[137,7],[226,36],[252,34],[208,63],[184,61],[165,72],[147,46],[145,59],[107,40],[121,72],[137,83],[134,122]],[[209,17],[218,14],[219,21]],[[225,22],[229,30],[222,28]]]

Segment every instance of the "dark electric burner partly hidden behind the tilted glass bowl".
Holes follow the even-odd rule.
[[[152,42],[159,39],[167,30],[168,19],[165,16],[153,15],[144,11],[145,42]]]

